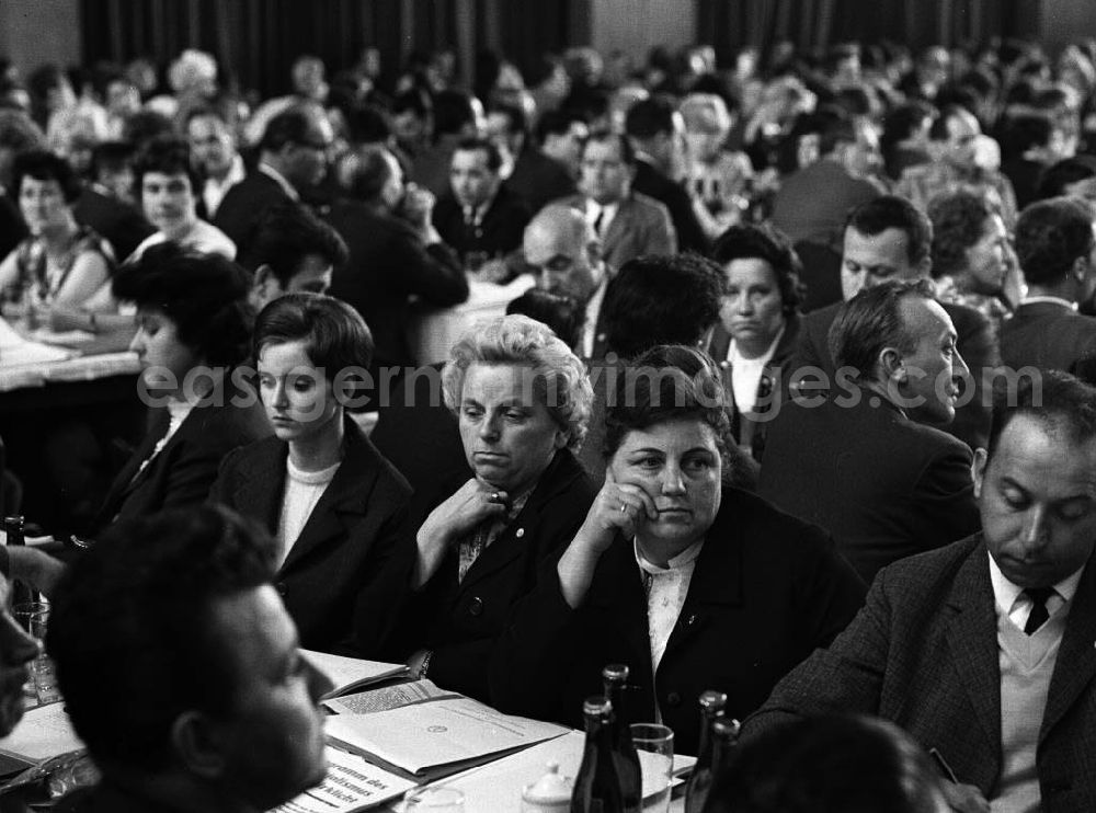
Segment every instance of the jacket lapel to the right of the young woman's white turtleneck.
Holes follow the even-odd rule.
[[[377,481],[378,455],[350,419],[346,419],[346,455],[342,465],[312,508],[300,536],[289,548],[282,565],[283,572],[332,539],[345,539],[350,528],[365,516]]]

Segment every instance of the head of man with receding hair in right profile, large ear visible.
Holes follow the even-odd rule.
[[[887,282],[846,302],[830,327],[838,370],[921,423],[955,419],[958,379],[969,375],[956,329],[928,280]],[[866,393],[864,397],[868,397]]]

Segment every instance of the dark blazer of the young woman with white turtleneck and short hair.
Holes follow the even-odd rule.
[[[407,594],[414,549],[407,529],[411,486],[350,417],[342,465],[289,548],[276,579],[300,644],[350,645],[379,659]],[[289,445],[276,437],[225,458],[212,502],[277,533]]]

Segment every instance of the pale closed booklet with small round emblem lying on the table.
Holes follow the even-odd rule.
[[[500,713],[469,698],[327,720],[329,737],[412,774],[522,748],[567,731]]]

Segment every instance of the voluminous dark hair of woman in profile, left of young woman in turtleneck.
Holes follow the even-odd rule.
[[[171,242],[123,265],[112,284],[116,299],[163,311],[175,323],[179,341],[215,367],[248,357],[254,322],[250,289],[251,275],[231,260]]]

